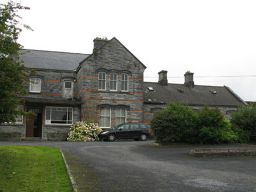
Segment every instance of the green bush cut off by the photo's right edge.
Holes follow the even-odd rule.
[[[231,114],[231,124],[242,130],[245,138],[248,136],[250,142],[256,143],[256,105],[243,105]]]

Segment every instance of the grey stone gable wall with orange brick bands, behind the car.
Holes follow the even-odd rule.
[[[143,73],[145,67],[118,40],[113,39],[88,57],[78,71],[78,98],[82,100],[83,120],[99,122],[100,107],[113,108],[112,126],[116,125],[114,107],[125,105],[127,121],[143,121]],[[106,73],[106,91],[98,90],[98,72]],[[110,91],[110,73],[117,73],[117,91]],[[129,91],[121,91],[121,74],[129,74]]]

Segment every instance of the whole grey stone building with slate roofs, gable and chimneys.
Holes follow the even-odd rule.
[[[228,87],[194,85],[193,73],[184,84],[169,84],[167,71],[159,83],[144,82],[146,66],[115,37],[94,41],[92,54],[29,51],[21,56],[26,67],[36,70],[23,85],[28,90],[26,120],[2,124],[0,140],[42,138],[66,140],[70,125],[93,120],[102,128],[123,122],[149,122],[167,102],[185,102],[194,109],[218,106],[224,115],[244,104]]]

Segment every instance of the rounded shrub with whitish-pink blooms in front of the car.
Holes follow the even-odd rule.
[[[94,124],[92,121],[79,121],[70,127],[68,133],[69,141],[94,141],[99,140],[98,134],[102,132],[102,129],[98,124]]]

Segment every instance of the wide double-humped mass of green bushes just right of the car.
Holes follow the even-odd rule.
[[[194,112],[184,104],[167,104],[150,121],[156,141],[169,143],[235,143],[238,135],[218,108],[204,107]]]

